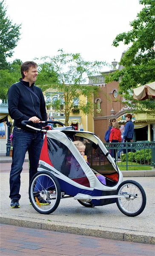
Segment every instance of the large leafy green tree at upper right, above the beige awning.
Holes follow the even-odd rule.
[[[113,41],[115,47],[121,41],[129,45],[119,63],[123,69],[106,77],[106,82],[119,81],[121,78],[119,93],[123,93],[128,105],[137,112],[144,112],[154,110],[155,101],[133,100],[132,89],[155,81],[155,0],[139,0],[139,3],[144,8],[138,13],[137,19],[130,23],[132,30],[117,35]]]

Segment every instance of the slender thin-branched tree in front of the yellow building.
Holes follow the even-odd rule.
[[[48,89],[52,88],[62,93],[63,101],[62,99],[57,99],[48,105],[52,105],[57,111],[64,112],[65,125],[69,124],[69,115],[75,106],[75,100],[79,99],[82,95],[87,97],[87,102],[80,102],[78,109],[84,114],[92,112],[92,93],[97,90],[97,87],[86,85],[86,81],[88,77],[96,75],[106,63],[103,61],[85,61],[79,53],[65,53],[63,49],[58,50],[58,54],[53,58],[44,57],[42,61],[44,61],[44,67],[46,67],[48,72],[51,69],[52,73],[55,72],[57,74],[57,81],[53,81],[52,77],[50,83],[50,72],[48,73],[47,81],[49,84],[44,88],[42,87],[42,90],[48,92]],[[37,80],[37,84],[40,86],[39,80]]]

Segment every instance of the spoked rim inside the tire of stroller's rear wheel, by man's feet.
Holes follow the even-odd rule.
[[[35,197],[41,197],[46,201],[50,201],[48,205],[36,203]],[[47,174],[40,174],[34,178],[31,185],[31,201],[34,208],[40,212],[48,212],[55,207],[57,202],[57,186],[55,181]]]

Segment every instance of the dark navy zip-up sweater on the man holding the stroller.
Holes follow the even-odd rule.
[[[9,88],[8,109],[9,115],[14,119],[14,126],[25,129],[25,127],[21,125],[23,120],[29,120],[30,117],[37,116],[40,121],[46,121],[47,115],[42,90],[34,84],[29,87],[37,94],[39,97],[38,100],[23,84],[29,87],[29,82],[20,79],[20,82],[12,84]],[[39,124],[39,126],[34,124],[33,126],[37,128],[42,127],[41,124]]]

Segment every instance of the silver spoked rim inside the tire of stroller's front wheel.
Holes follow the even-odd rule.
[[[118,198],[118,204],[124,212],[134,214],[141,209],[143,203],[143,196],[140,189],[131,183],[124,184],[118,191],[118,195],[131,195],[130,198]],[[133,196],[137,194],[137,196]]]

